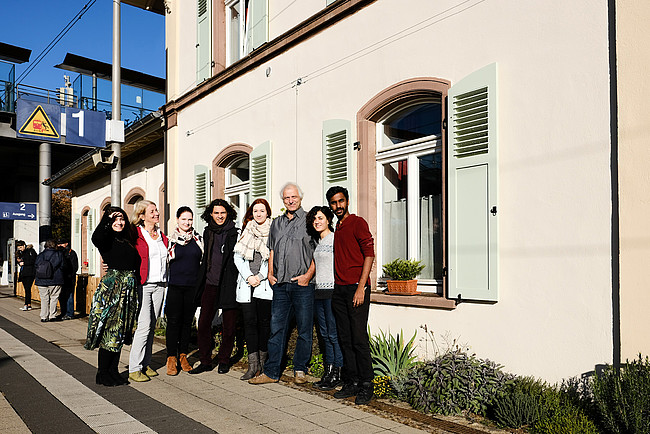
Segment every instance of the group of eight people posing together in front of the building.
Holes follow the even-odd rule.
[[[136,203],[131,222],[118,207],[108,208],[92,235],[108,266],[93,297],[85,347],[99,348],[97,384],[125,384],[117,370],[120,351],[131,345],[129,379],[148,381],[156,320],[167,317],[167,374],[201,374],[213,369],[212,324],[221,311],[222,336],[216,356],[220,374],[230,370],[238,318],[248,349],[251,384],[277,382],[291,321],[298,339],[294,381],[306,383],[314,316],[324,343],[325,375],[314,387],[337,398],[373,396],[373,369],[367,333],[368,277],[374,243],[366,221],[348,210],[348,191],[332,187],[328,206],[302,208],[303,193],[294,183],[280,191],[285,212],[271,219],[265,199],[248,207],[237,229],[236,212],[223,199],[201,214],[201,236],[189,207],[176,212],[166,236],[150,201]],[[334,216],[337,217],[334,231]],[[166,296],[165,296],[166,295]],[[164,302],[166,300],[166,302]],[[199,364],[187,360],[192,319],[200,307]],[[132,333],[135,327],[135,333]]]

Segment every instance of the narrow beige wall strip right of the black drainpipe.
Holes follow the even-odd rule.
[[[621,359],[650,353],[650,3],[616,5]]]

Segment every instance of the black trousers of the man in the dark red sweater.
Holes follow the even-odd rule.
[[[336,318],[339,345],[343,353],[343,378],[346,382],[372,382],[374,373],[368,339],[370,286],[366,286],[363,304],[354,307],[357,285],[334,285],[332,312]]]

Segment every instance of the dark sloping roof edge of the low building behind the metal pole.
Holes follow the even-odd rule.
[[[124,143],[121,149],[122,159],[161,139],[163,136],[162,113],[160,111],[149,113],[124,130]],[[70,188],[75,182],[105,170],[95,167],[93,164],[93,154],[96,152],[97,149],[93,149],[84,154],[45,180],[43,184],[53,188]]]

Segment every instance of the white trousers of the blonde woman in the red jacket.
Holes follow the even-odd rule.
[[[162,312],[165,287],[164,283],[142,285],[142,307],[129,353],[129,372],[141,371],[151,362],[153,333]]]

